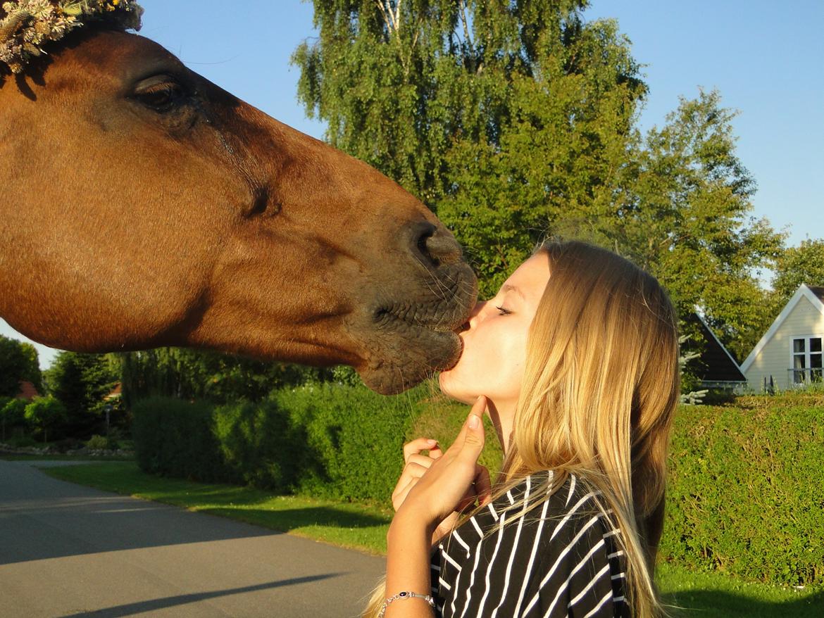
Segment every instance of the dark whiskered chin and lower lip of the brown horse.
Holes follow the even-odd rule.
[[[452,331],[413,326],[394,344],[384,344],[380,357],[372,356],[358,374],[372,391],[396,395],[454,367],[461,351],[461,338]]]

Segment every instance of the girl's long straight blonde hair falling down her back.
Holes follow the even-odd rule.
[[[632,613],[660,616],[653,569],[679,393],[675,311],[653,276],[611,251],[550,241],[536,253],[550,279],[494,494],[545,470],[555,487],[575,474],[600,489],[621,532]]]

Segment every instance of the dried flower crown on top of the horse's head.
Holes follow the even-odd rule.
[[[0,63],[21,73],[30,59],[45,54],[40,45],[60,40],[88,21],[109,21],[140,30],[143,9],[135,0],[12,0],[2,2]]]

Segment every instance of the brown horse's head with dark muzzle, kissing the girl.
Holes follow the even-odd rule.
[[[2,17],[0,10],[0,17]],[[392,393],[475,302],[419,200],[138,35],[0,64],[0,316],[44,344],[347,363]]]

